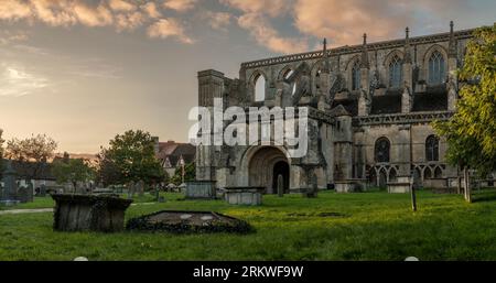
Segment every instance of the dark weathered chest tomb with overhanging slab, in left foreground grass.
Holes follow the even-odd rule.
[[[131,199],[118,196],[53,194],[56,231],[116,232],[123,229],[125,211]]]

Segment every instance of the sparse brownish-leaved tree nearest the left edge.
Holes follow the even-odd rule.
[[[12,139],[7,142],[6,156],[26,164],[26,177],[36,179],[53,156],[57,143],[46,134],[31,135],[24,140]]]

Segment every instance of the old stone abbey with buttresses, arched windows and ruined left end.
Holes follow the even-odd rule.
[[[451,24],[446,33],[410,37],[407,29],[402,40],[367,43],[364,35],[360,45],[332,50],[324,42],[323,51],[242,63],[235,79],[217,70],[198,72],[200,106],[213,108],[214,98],[222,98],[225,108],[294,106],[308,107],[311,115],[306,156],[291,159],[285,145],[201,145],[197,179],[216,181],[217,187],[263,186],[274,193],[276,174],[285,176],[277,162],[284,161],[292,192],[336,182],[451,185],[456,168],[445,163],[445,141],[435,138],[430,122],[448,119],[455,110],[460,86],[454,70],[463,64],[472,32],[455,32]],[[441,57],[435,84],[430,79],[434,53]],[[395,74],[400,84],[393,83]],[[261,77],[265,94],[257,99]],[[386,148],[388,159],[377,157]]]

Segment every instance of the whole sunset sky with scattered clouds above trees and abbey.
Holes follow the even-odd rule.
[[[3,139],[96,153],[142,129],[186,141],[198,70],[330,45],[492,25],[495,0],[0,0]]]

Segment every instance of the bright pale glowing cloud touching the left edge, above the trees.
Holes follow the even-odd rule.
[[[0,96],[26,96],[48,86],[46,78],[28,73],[19,66],[3,64],[1,70]]]

